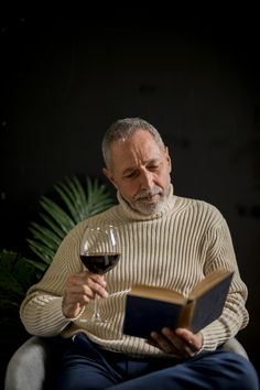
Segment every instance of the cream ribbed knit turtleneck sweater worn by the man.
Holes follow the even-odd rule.
[[[217,268],[235,271],[223,315],[203,332],[204,350],[214,350],[248,323],[247,288],[240,279],[228,226],[212,205],[171,194],[160,214],[133,212],[118,195],[119,204],[88,219],[118,227],[121,257],[106,274],[109,296],[99,300],[108,323],[69,321],[62,312],[65,281],[83,269],[79,245],[86,220],[63,240],[43,279],[33,285],[21,305],[21,319],[30,334],[69,337],[85,332],[99,346],[127,354],[163,355],[144,339],[122,334],[126,294],[134,283],[172,288],[184,295]],[[91,316],[93,301],[82,318]]]

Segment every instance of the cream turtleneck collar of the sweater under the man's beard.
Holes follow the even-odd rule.
[[[121,213],[127,216],[129,219],[134,219],[134,220],[152,220],[152,219],[159,219],[163,217],[165,214],[167,214],[174,206],[175,204],[175,196],[173,194],[173,185],[171,184],[170,187],[170,194],[169,197],[165,199],[162,209],[159,213],[150,214],[150,215],[144,215],[139,212],[136,212],[132,209],[128,202],[121,196],[119,191],[117,192],[117,198],[118,202],[121,206]]]

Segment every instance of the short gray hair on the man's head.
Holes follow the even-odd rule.
[[[110,155],[110,145],[113,141],[126,140],[134,132],[139,130],[145,130],[152,134],[156,143],[161,148],[164,147],[164,142],[159,133],[159,131],[144,119],[141,118],[124,118],[118,119],[113,122],[106,131],[101,148],[102,148],[102,156],[107,167],[111,167],[111,155]]]

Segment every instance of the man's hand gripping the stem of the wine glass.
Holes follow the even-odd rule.
[[[104,275],[90,273],[87,270],[71,275],[67,279],[63,295],[63,314],[67,318],[75,318],[95,295],[107,297]]]

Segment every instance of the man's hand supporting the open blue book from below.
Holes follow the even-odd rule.
[[[148,343],[166,354],[192,357],[203,347],[203,335],[201,332],[194,334],[186,328],[180,327],[173,332],[164,327],[162,333],[152,332]]]

